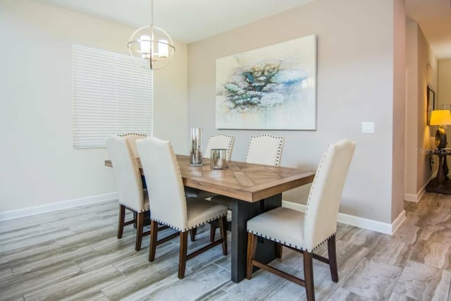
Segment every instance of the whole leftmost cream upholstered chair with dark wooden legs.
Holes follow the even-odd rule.
[[[140,168],[132,154],[130,142],[125,137],[111,136],[106,139],[111,163],[113,164],[119,192],[118,238],[122,238],[124,226],[136,223],[135,250],[141,249],[144,213],[149,211],[147,192],[142,188]],[[125,222],[125,209],[134,213],[136,219]]]

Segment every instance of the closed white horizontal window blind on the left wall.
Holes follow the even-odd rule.
[[[109,135],[152,136],[152,71],[130,56],[73,45],[73,147]]]

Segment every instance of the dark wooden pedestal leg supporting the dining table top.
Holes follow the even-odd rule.
[[[231,231],[232,266],[230,269],[233,282],[240,282],[246,276],[247,221],[264,211],[280,207],[281,205],[282,194],[254,203],[240,201],[239,199],[233,200]],[[257,260],[268,263],[276,259],[276,254],[276,243],[269,240],[259,240],[256,254]]]

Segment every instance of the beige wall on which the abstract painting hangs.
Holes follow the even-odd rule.
[[[393,141],[404,141],[402,130],[393,130],[405,89],[404,42],[394,43],[404,40],[402,25],[393,20],[400,11],[394,1],[316,0],[188,45],[188,127],[204,128],[204,142],[217,132],[235,135],[232,158],[244,160],[249,136],[261,131],[215,129],[216,59],[315,34],[317,130],[265,132],[285,137],[282,165],[297,168],[316,169],[330,142],[343,137],[357,142],[340,212],[391,223],[402,202],[393,176],[400,176],[395,185],[404,183],[403,164],[393,164],[398,159]],[[400,90],[394,90],[394,80]],[[375,133],[362,134],[362,121],[373,121]],[[283,199],[305,204],[307,191],[292,190]]]

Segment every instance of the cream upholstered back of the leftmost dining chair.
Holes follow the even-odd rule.
[[[135,211],[144,211],[144,195],[140,167],[125,137],[111,136],[106,147],[113,164],[119,192],[119,203]]]

